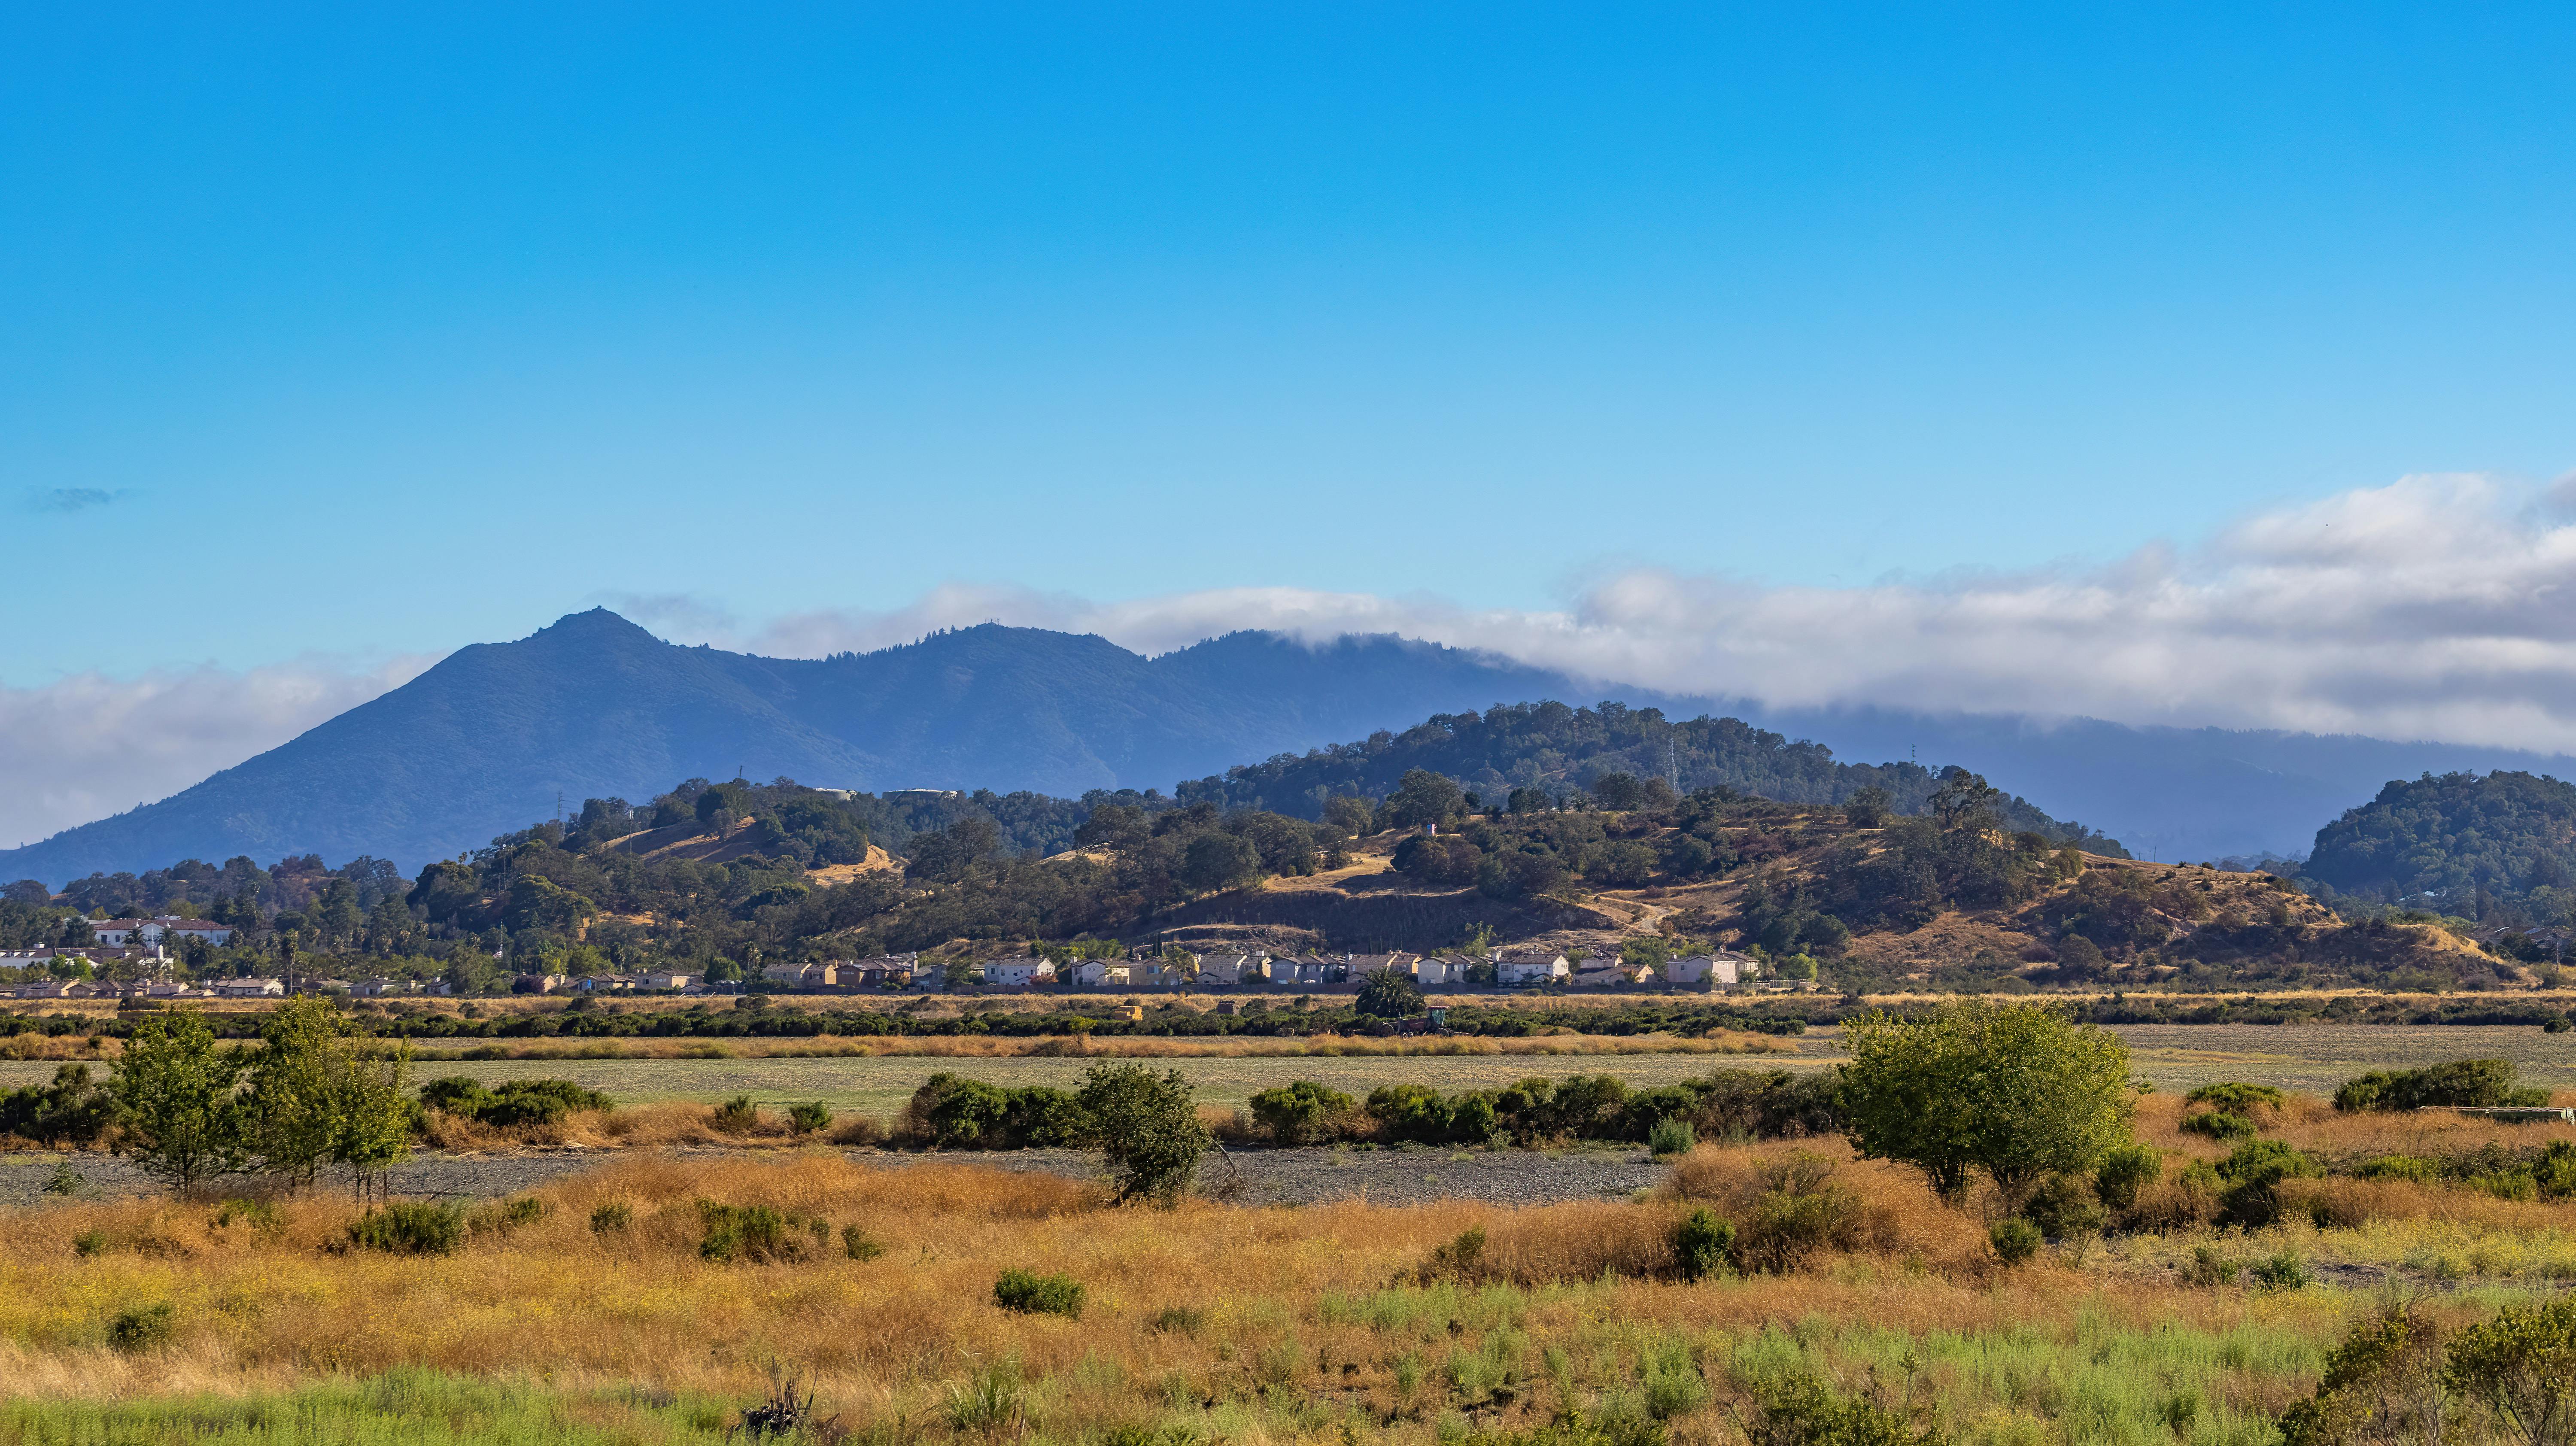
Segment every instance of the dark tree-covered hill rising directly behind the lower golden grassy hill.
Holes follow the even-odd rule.
[[[1182,784],[1180,796],[1319,817],[1334,796],[1383,799],[1414,768],[1458,778],[1497,802],[1515,791],[1556,802],[1592,789],[1607,773],[1664,781],[1672,796],[1734,789],[1783,804],[1842,804],[1878,789],[1886,794],[1880,807],[1899,815],[1924,812],[1940,789],[1932,768],[1837,763],[1834,750],[1821,742],[1790,742],[1739,719],[1669,722],[1659,709],[1540,701],[1440,714],[1404,732],[1229,768],[1218,778]],[[2022,796],[1999,796],[1994,812],[2009,830],[2030,830],[2089,853],[2128,856],[2117,840],[2079,822],[2058,822]]]

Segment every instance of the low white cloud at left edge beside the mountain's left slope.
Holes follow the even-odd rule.
[[[165,799],[412,680],[430,662],[80,673],[41,688],[0,688],[0,778],[10,781],[0,789],[0,848]]]

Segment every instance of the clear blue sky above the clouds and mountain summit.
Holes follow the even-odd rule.
[[[0,683],[2576,467],[2563,5],[533,10],[0,21]]]

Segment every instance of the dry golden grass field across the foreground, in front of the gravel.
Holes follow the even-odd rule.
[[[544,1374],[562,1389],[634,1382],[742,1394],[775,1356],[811,1371],[850,1420],[912,1420],[945,1436],[945,1392],[1012,1361],[1048,1382],[1038,1405],[1056,1438],[1077,1420],[1288,1389],[1355,1402],[1427,1441],[1432,1415],[1406,1371],[1443,1353],[1458,1361],[1458,1351],[1520,1361],[1525,1397],[1486,1420],[1525,1423],[1543,1420],[1558,1389],[1625,1389],[1636,1353],[1664,1338],[1832,1320],[1865,1322],[1873,1340],[1891,1330],[2074,1340],[2102,1325],[2231,1330],[2251,1312],[2241,1297],[2050,1266],[1953,1271],[1937,1255],[1976,1222],[1937,1204],[1924,1209],[1945,1224],[1878,1222],[1862,1253],[1808,1273],[1703,1286],[1649,1278],[1669,1266],[1680,1196],[1741,1191],[1757,1162],[1703,1152],[1687,1170],[1692,1186],[1654,1204],[1123,1211],[1087,1183],[969,1165],[636,1155],[538,1191],[538,1222],[477,1235],[448,1258],[340,1250],[355,1214],[343,1199],[283,1201],[273,1224],[242,1214],[216,1224],[211,1204],[75,1204],[0,1217],[0,1394],[283,1389],[394,1366]],[[1875,1168],[1844,1162],[1839,1173],[1873,1209],[1922,1206]],[[698,1199],[858,1224],[886,1253],[706,1263]],[[595,1235],[598,1206],[623,1206],[631,1224]],[[1512,1294],[1412,1286],[1432,1250],[1471,1224],[1489,1237],[1481,1278]],[[106,1242],[88,1258],[75,1250],[85,1232]],[[1002,1268],[1069,1273],[1090,1289],[1090,1309],[1079,1322],[1002,1312],[992,1304]],[[165,1351],[103,1345],[108,1317],[157,1302],[178,1320]],[[2311,1309],[2300,1330],[2324,1335],[2336,1317]],[[1535,1343],[1566,1348],[1579,1369],[1551,1387]],[[1252,1425],[1229,1436],[1298,1436],[1280,1420]],[[1682,1438],[1718,1425],[1713,1407],[1677,1420]]]

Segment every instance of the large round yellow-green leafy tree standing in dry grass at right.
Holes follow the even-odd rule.
[[[1984,1000],[1844,1026],[1842,1090],[1865,1157],[1922,1168],[1942,1193],[1984,1170],[2014,1209],[2058,1170],[2128,1142],[2128,1046],[2040,1005]]]

